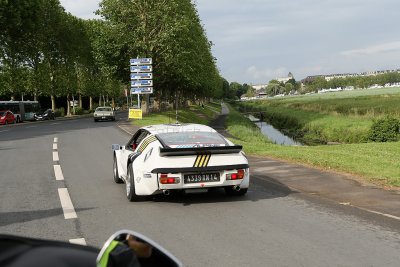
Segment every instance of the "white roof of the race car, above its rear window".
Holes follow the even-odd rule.
[[[203,124],[156,124],[142,127],[151,134],[174,132],[216,132],[213,128]]]

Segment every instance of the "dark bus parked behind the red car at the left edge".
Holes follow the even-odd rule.
[[[16,122],[32,121],[40,111],[38,101],[0,101],[0,110],[11,110]]]

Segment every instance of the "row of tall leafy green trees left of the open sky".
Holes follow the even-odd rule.
[[[157,102],[221,97],[224,80],[190,0],[103,0],[99,20],[59,0],[0,0],[0,97],[123,96],[129,59],[153,58]],[[101,99],[102,97],[100,97]],[[103,97],[104,99],[104,97]]]

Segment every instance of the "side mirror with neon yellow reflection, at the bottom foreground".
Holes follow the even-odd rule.
[[[96,263],[98,267],[165,266],[181,267],[182,263],[150,238],[130,230],[111,235],[104,243]]]

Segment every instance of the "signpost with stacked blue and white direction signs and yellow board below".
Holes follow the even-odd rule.
[[[153,59],[152,58],[131,58],[131,90],[130,94],[138,95],[138,108],[129,109],[129,118],[142,119],[140,109],[140,95],[153,93]],[[139,114],[140,110],[140,114]]]

